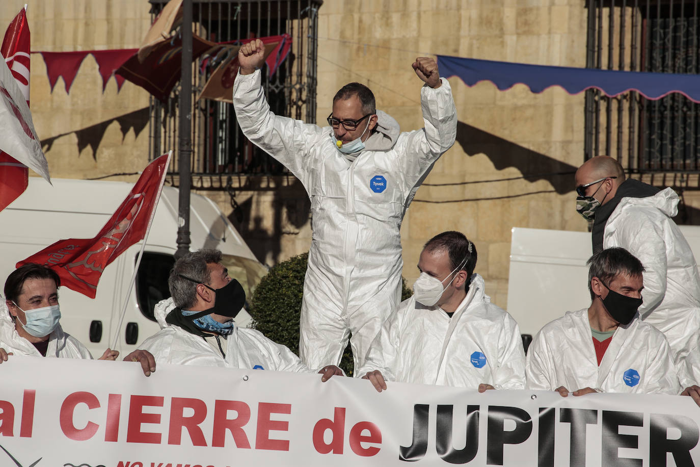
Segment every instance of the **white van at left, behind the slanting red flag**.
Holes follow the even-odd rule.
[[[53,179],[52,183],[50,186],[43,179],[30,177],[25,193],[0,211],[0,283],[3,285],[18,261],[57,240],[97,235],[134,186],[125,182],[69,179]],[[223,263],[231,277],[244,286],[249,299],[267,268],[255,259],[214,202],[193,193],[190,206],[190,251],[221,250]],[[106,267],[94,300],[67,287],[59,289],[61,326],[83,342],[95,358],[111,346],[125,298],[128,305],[116,346],[122,355],[137,349],[146,337],[159,330],[153,318],[153,305],[170,296],[167,277],[177,249],[177,218],[178,190],[164,186],[133,290],[127,289],[141,242]],[[247,326],[251,317],[243,310],[236,321],[239,326]]]

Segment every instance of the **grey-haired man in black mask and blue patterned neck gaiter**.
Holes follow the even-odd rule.
[[[155,309],[164,327],[142,344],[158,364],[316,372],[260,331],[236,326],[233,320],[243,308],[246,293],[221,264],[221,251],[202,249],[186,254],[176,261],[168,286],[172,299],[163,300]],[[343,374],[335,365],[318,372],[323,381]]]

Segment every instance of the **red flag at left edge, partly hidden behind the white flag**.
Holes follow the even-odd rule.
[[[5,32],[0,54],[17,81],[29,105],[29,23],[22,8]],[[0,211],[25,192],[29,169],[8,153],[0,151]]]

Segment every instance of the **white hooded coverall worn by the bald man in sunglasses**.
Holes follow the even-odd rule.
[[[678,195],[626,197],[605,223],[603,248],[621,246],[644,265],[642,319],[661,330],[684,386],[700,383],[700,277],[678,225]]]

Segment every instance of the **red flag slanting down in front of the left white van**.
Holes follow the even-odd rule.
[[[160,156],[146,167],[139,181],[96,237],[59,240],[20,261],[16,267],[27,263],[43,264],[58,273],[62,285],[94,298],[104,268],[147,235],[169,161],[170,153]]]

